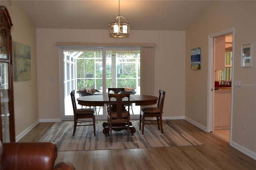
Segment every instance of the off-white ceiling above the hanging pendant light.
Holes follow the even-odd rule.
[[[186,30],[212,0],[120,0],[130,30]],[[107,30],[118,0],[19,0],[36,28]]]

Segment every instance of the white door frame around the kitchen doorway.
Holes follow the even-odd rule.
[[[213,131],[214,126],[214,38],[218,36],[223,36],[226,34],[232,34],[233,36],[233,49],[232,49],[232,80],[234,80],[234,34],[235,28],[229,28],[214,34],[208,35],[208,93],[207,93],[207,132]],[[231,87],[231,116],[230,116],[230,142],[232,138],[232,113],[233,113],[233,88],[234,81],[232,81]]]

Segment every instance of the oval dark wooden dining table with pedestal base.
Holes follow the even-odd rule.
[[[109,103],[108,95],[90,95],[90,96],[82,96],[76,99],[79,105],[83,106],[104,106],[104,104]],[[136,106],[146,106],[146,105],[154,105],[157,103],[158,97],[150,96],[150,95],[130,95],[130,103],[135,103]],[[104,122],[103,133],[107,136],[108,134],[108,123]],[[118,131],[124,129],[116,129]],[[132,123],[130,122],[130,132],[133,135],[136,132],[136,129],[132,127]]]

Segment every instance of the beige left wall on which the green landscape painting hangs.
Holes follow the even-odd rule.
[[[17,136],[31,128],[38,121],[36,28],[17,1],[0,1],[6,6],[12,20],[12,41],[31,47],[31,80],[14,81],[14,117]],[[15,65],[14,65],[15,67]],[[27,132],[27,131],[26,131]]]

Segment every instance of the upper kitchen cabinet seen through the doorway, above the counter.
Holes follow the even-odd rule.
[[[225,36],[214,38],[214,70],[225,70]]]

